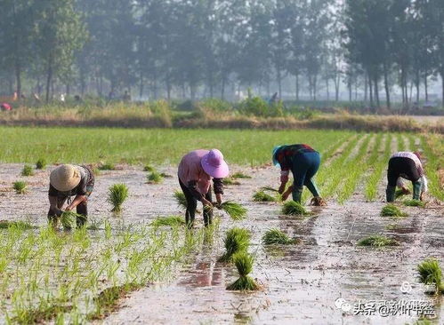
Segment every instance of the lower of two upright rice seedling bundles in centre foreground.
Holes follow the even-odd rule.
[[[234,264],[238,269],[238,280],[231,283],[228,290],[252,291],[259,289],[259,284],[248,276],[253,271],[254,258],[246,251],[239,252],[233,257]]]

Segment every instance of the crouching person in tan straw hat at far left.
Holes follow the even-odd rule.
[[[86,166],[64,164],[52,170],[49,186],[48,219],[55,226],[58,218],[63,213],[63,204],[68,200],[65,211],[74,210],[85,218],[77,217],[77,226],[85,225],[88,216],[87,202],[93,192],[94,175],[93,170]],[[75,196],[71,200],[71,196]]]

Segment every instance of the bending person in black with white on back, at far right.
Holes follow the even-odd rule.
[[[401,178],[408,179],[413,184],[413,199],[423,200],[423,194],[427,192],[427,178],[424,176],[421,155],[417,152],[399,152],[389,160],[389,169],[387,170],[387,202],[395,201],[396,186],[407,194],[408,189],[404,186]]]

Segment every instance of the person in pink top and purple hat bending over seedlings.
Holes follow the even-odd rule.
[[[227,177],[229,172],[222,153],[217,149],[195,150],[183,156],[179,164],[178,177],[187,200],[185,219],[189,227],[194,224],[198,201],[204,205],[205,226],[211,225],[213,218],[211,179],[213,178],[216,206],[220,206],[223,194],[222,178]]]

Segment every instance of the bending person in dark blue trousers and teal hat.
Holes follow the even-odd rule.
[[[313,194],[311,203],[318,206],[326,205],[326,202],[319,196],[318,188],[312,179],[319,170],[320,155],[317,151],[303,144],[278,146],[273,149],[272,160],[275,166],[280,166],[279,194],[282,194],[283,201],[293,194],[293,200],[301,203],[303,186],[307,186]],[[294,183],[286,191],[290,170]]]

